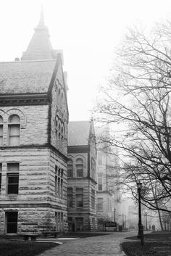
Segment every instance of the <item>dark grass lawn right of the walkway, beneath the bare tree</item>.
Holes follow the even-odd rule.
[[[141,239],[131,237],[133,241],[121,244],[122,249],[128,256],[170,256],[171,255],[171,233],[144,234],[144,244]],[[137,240],[137,241],[135,241]]]

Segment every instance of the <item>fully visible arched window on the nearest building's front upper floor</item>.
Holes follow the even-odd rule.
[[[20,117],[12,115],[8,123],[9,145],[17,146],[20,144]]]

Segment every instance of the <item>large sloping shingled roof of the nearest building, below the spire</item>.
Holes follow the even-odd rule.
[[[0,62],[0,94],[45,93],[57,60]]]

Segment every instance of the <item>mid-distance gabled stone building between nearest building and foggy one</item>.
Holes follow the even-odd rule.
[[[70,231],[93,231],[97,228],[93,121],[70,122],[68,131],[68,227]]]

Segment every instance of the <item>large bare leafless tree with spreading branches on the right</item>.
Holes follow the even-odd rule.
[[[171,212],[170,31],[170,22],[129,30],[96,110],[114,131],[99,140],[122,152],[122,183],[137,197],[141,179],[143,204],[164,212]]]

